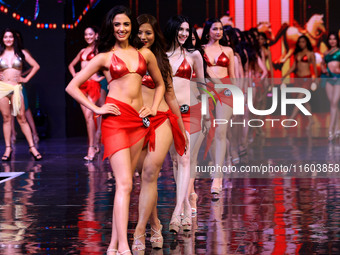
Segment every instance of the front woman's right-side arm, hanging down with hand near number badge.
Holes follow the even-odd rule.
[[[161,74],[161,71],[158,68],[157,65],[157,59],[155,57],[155,55],[148,49],[141,49],[141,52],[143,52],[143,55],[146,56],[146,60],[147,60],[147,65],[148,65],[148,72],[152,78],[152,80],[155,83],[155,95],[153,98],[153,102],[152,102],[152,106],[151,106],[151,112],[146,111],[146,107],[143,107],[140,110],[140,116],[141,117],[146,117],[148,115],[152,115],[155,116],[159,107],[159,104],[161,103],[163,97],[164,97],[164,93],[165,93],[165,85],[164,85],[164,81],[163,81],[163,77]]]

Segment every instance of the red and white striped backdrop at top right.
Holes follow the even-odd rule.
[[[293,24],[294,0],[229,0],[229,11],[234,18],[235,27],[248,30],[256,27],[259,22],[269,22],[273,34],[276,35],[282,24]],[[278,59],[283,52],[282,41],[279,40],[270,50],[273,60]],[[283,66],[283,72],[289,67],[289,62]],[[281,71],[274,72],[275,77],[280,75]]]

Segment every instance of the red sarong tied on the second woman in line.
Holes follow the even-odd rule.
[[[156,130],[160,125],[169,119],[171,124],[171,131],[174,138],[175,149],[179,155],[183,155],[185,152],[185,138],[178,125],[178,117],[173,114],[169,109],[166,112],[158,111],[156,116],[150,117],[150,128]],[[154,131],[149,134],[155,133]],[[149,139],[149,134],[146,136],[146,140]],[[151,137],[150,137],[151,138]]]

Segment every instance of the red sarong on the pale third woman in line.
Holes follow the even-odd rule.
[[[181,115],[184,128],[189,134],[201,131],[201,103],[190,106],[189,111]]]

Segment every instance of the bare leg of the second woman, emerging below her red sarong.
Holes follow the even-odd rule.
[[[148,152],[144,160],[135,237],[145,234],[146,224],[155,205],[157,205],[157,179],[172,140],[170,122],[166,120],[156,129],[156,150]],[[145,247],[144,243],[145,236],[135,242],[135,244],[142,244],[137,245],[135,248]]]

